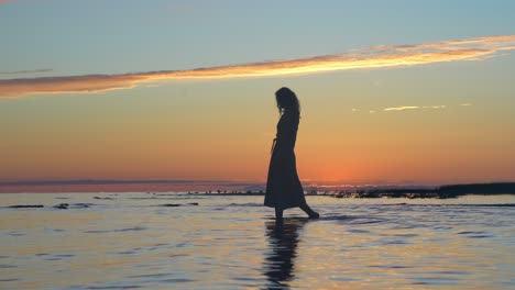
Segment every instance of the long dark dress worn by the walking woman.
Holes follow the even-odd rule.
[[[289,209],[306,203],[304,189],[297,174],[295,142],[298,115],[284,111],[277,123],[277,135],[272,148],[264,205]]]

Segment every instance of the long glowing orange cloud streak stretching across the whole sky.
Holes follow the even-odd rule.
[[[492,57],[501,51],[511,49],[515,49],[515,35],[417,45],[381,45],[338,55],[188,70],[3,79],[0,80],[0,97],[35,93],[88,93],[128,89],[144,82],[165,80],[305,75],[349,69],[415,66],[441,62],[480,60]]]

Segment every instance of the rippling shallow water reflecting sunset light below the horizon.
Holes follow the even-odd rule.
[[[0,194],[0,288],[515,288],[515,197],[307,197],[282,228],[262,200]]]

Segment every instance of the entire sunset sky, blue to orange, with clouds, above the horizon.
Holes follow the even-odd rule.
[[[514,12],[503,0],[0,0],[0,187],[262,185],[284,86],[302,103],[305,186],[513,181]]]

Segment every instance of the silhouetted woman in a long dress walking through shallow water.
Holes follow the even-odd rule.
[[[306,203],[295,161],[294,148],[300,119],[297,96],[288,88],[281,88],[275,92],[275,100],[281,120],[272,145],[264,205],[275,208],[277,222],[283,221],[284,210],[296,207],[305,211],[310,219],[317,219],[319,214]]]

